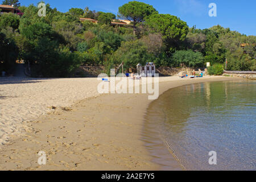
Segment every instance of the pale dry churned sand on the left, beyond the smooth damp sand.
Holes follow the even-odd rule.
[[[96,78],[36,79],[0,77],[0,145],[20,133],[27,121],[98,96]]]

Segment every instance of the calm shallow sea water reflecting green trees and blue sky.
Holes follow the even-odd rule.
[[[171,89],[152,102],[146,120],[188,170],[256,170],[255,81]],[[209,165],[209,151],[217,165]]]

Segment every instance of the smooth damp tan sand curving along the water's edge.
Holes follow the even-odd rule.
[[[187,84],[242,78],[166,79],[159,94]],[[170,80],[170,81],[169,81]],[[172,80],[172,81],[171,81]],[[26,134],[0,148],[2,170],[158,170],[143,137],[146,94],[103,94],[28,123]],[[144,133],[145,134],[145,133]],[[152,141],[151,141],[152,142]],[[160,144],[161,145],[161,144]],[[146,146],[146,147],[145,147]],[[45,151],[47,165],[37,155]],[[166,155],[166,152],[164,152]],[[170,155],[171,156],[171,155]],[[172,160],[173,170],[181,170]],[[170,170],[170,168],[164,168]]]

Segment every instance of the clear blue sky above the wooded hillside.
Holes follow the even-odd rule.
[[[1,1],[1,0],[0,0]],[[19,0],[21,5],[36,5],[40,0]],[[111,12],[117,14],[118,7],[129,0],[44,0],[51,7],[67,12],[71,7]],[[130,0],[131,1],[131,0]],[[256,1],[255,0],[139,0],[155,7],[160,14],[178,16],[189,27],[209,28],[220,24],[241,34],[256,35]],[[209,3],[216,3],[217,17],[209,17]]]

